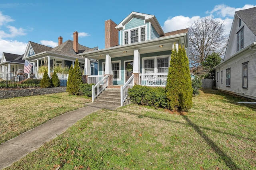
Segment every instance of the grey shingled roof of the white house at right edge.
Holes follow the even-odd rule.
[[[252,33],[256,35],[256,7],[236,11],[236,14],[239,16],[239,18],[241,18],[242,21],[244,21],[244,23],[252,31]]]

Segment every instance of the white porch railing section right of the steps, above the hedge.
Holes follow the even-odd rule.
[[[165,87],[167,83],[167,72],[164,73],[150,73],[140,74],[139,84],[144,86],[162,86]]]

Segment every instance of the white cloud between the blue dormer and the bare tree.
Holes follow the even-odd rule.
[[[188,28],[188,26],[191,25],[191,23],[196,21],[198,18],[200,18],[200,16],[194,16],[192,18],[184,17],[184,16],[176,16],[173,18],[168,18],[168,20],[164,22],[164,26],[162,27],[162,29],[164,30],[164,32],[185,29],[185,28]]]

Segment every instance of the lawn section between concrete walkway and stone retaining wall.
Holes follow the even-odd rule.
[[[91,100],[68,93],[1,99],[0,144]]]

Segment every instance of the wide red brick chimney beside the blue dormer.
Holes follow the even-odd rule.
[[[105,21],[105,48],[114,47],[119,44],[118,29],[112,20]]]

